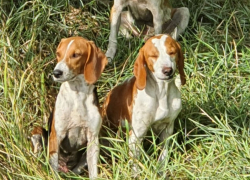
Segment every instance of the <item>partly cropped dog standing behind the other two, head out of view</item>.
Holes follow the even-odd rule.
[[[128,10],[122,11],[125,7]],[[175,38],[178,38],[186,29],[188,21],[188,8],[173,9],[169,0],[114,0],[110,13],[110,36],[106,56],[109,62],[115,56],[120,25],[121,33],[126,37],[131,33],[135,36],[174,33]]]

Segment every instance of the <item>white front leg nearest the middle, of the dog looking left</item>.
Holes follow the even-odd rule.
[[[98,135],[88,133],[88,146],[87,146],[87,164],[89,170],[89,178],[96,179],[98,175],[98,159],[99,159],[100,147]]]

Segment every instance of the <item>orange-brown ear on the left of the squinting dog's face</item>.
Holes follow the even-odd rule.
[[[134,65],[134,75],[136,77],[136,87],[143,90],[146,86],[146,61],[143,49],[140,50],[139,55]]]

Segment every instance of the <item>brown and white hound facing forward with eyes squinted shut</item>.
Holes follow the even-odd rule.
[[[112,89],[102,107],[105,125],[112,130],[130,125],[129,148],[139,156],[138,144],[151,127],[164,142],[173,133],[174,121],[181,111],[180,85],[186,83],[184,58],[180,45],[169,35],[148,39],[134,64],[134,76]],[[178,69],[181,83],[176,86]],[[167,143],[159,161],[167,156]]]

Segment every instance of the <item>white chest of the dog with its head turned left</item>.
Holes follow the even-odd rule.
[[[89,87],[72,87],[68,82],[61,85],[55,106],[57,131],[67,132],[80,127],[99,132],[101,117],[98,107],[93,103],[93,88],[87,88]]]

